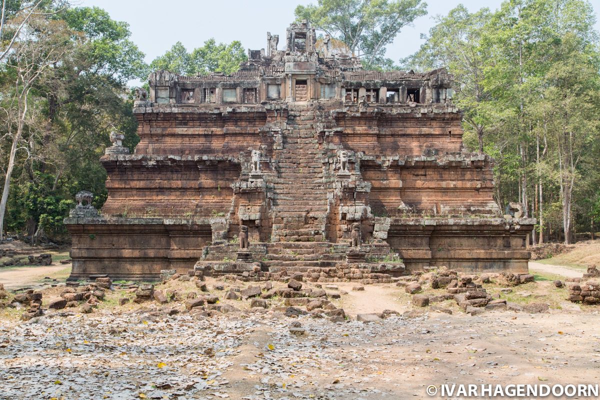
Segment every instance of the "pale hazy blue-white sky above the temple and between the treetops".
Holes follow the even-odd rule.
[[[481,7],[494,10],[501,3],[501,0],[426,1],[428,14],[415,20],[414,26],[404,28],[388,46],[387,56],[394,61],[419,49],[423,43],[420,35],[434,25],[434,16],[445,15],[461,3],[470,11]],[[600,11],[598,1],[592,0],[596,17]],[[294,20],[294,8],[311,2],[316,0],[76,0],[76,4],[104,8],[112,19],[128,22],[131,38],[146,54],[146,62],[163,54],[176,41],[181,41],[189,51],[211,37],[217,42],[239,40],[246,49],[257,50],[266,47],[266,32],[271,32],[279,35],[279,49],[283,49],[286,28]],[[596,23],[596,30],[600,30],[600,22]]]

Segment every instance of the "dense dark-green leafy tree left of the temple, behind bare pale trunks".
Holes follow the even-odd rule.
[[[48,78],[37,80],[30,91],[35,113],[28,120],[29,149],[17,153],[10,184],[7,226],[25,228],[32,237],[64,233],[59,222],[79,190],[91,190],[94,205],[103,204],[106,172],[100,157],[112,130],[124,133],[130,148],[139,140],[127,82],[148,75],[127,23],[110,19],[106,11],[62,7],[39,17],[69,33],[64,41],[68,52],[56,58]],[[7,143],[0,146],[5,169]]]

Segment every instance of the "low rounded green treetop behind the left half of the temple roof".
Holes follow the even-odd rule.
[[[211,72],[229,75],[237,71],[239,64],[247,59],[244,47],[237,40],[224,44],[211,38],[204,42],[204,46],[197,47],[191,53],[178,41],[164,55],[155,58],[150,64],[150,69],[167,70],[187,76]]]

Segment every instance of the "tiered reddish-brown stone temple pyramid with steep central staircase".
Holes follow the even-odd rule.
[[[527,270],[535,219],[500,212],[445,70],[365,71],[307,23],[278,41],[231,76],[150,75],[134,154],[113,133],[101,158],[106,203],[82,192],[65,219],[71,278]]]

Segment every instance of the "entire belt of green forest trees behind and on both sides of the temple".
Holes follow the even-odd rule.
[[[398,33],[426,13],[421,0],[319,0],[296,7],[340,52],[365,68],[400,68],[386,58]],[[34,12],[43,11],[43,12]],[[464,112],[465,142],[496,159],[495,198],[526,205],[534,242],[571,242],[600,219],[600,52],[589,1],[508,0],[436,17],[403,68],[445,67]],[[230,74],[247,56],[239,41],[176,43],[143,62],[127,23],[63,0],[2,2],[0,26],[0,235],[59,239],[74,194],[106,199],[99,158],[108,133],[137,143],[133,93],[150,70]],[[319,47],[319,46],[317,46]],[[127,211],[124,212],[125,214]]]

